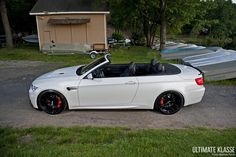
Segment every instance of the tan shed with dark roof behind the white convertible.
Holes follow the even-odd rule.
[[[107,49],[107,14],[97,0],[38,0],[30,11],[40,50],[66,53]]]

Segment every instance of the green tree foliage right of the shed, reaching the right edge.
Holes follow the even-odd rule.
[[[184,32],[191,36],[208,36],[219,40],[218,46],[234,46],[236,36],[236,4],[231,0],[175,0],[166,1],[168,34]],[[117,30],[129,31],[136,41],[145,36],[146,45],[151,45],[160,26],[158,0],[110,0],[110,24]],[[187,29],[187,30],[186,30]]]

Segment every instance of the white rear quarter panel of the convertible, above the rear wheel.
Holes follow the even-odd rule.
[[[137,77],[139,86],[133,104],[139,108],[153,109],[156,98],[165,91],[177,91],[185,95],[185,84],[179,75],[142,76]]]

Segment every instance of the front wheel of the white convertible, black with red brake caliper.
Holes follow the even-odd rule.
[[[66,98],[57,91],[44,91],[40,93],[37,104],[39,109],[51,115],[61,113],[68,105]]]

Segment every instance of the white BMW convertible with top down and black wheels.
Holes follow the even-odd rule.
[[[177,64],[111,64],[105,55],[88,65],[46,73],[29,89],[34,108],[49,114],[65,109],[154,109],[174,114],[202,100],[201,71]]]

